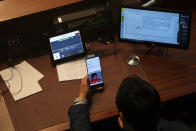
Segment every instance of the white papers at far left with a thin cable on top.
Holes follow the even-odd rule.
[[[42,91],[38,81],[44,76],[26,61],[2,70],[0,74],[15,101]]]

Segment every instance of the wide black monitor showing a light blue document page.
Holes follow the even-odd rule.
[[[120,40],[187,49],[190,20],[189,13],[122,7]]]

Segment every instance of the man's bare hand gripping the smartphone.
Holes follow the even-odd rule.
[[[86,98],[89,89],[90,87],[88,85],[88,75],[86,75],[81,81],[78,98]]]

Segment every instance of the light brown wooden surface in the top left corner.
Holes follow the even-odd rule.
[[[81,1],[83,0],[3,0],[0,1],[0,22]]]

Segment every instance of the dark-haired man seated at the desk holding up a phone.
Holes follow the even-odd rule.
[[[88,77],[82,79],[78,98],[70,107],[72,131],[92,131],[86,95]],[[159,121],[160,96],[153,86],[138,77],[123,80],[116,96],[118,123],[124,131],[190,131],[183,123]]]

